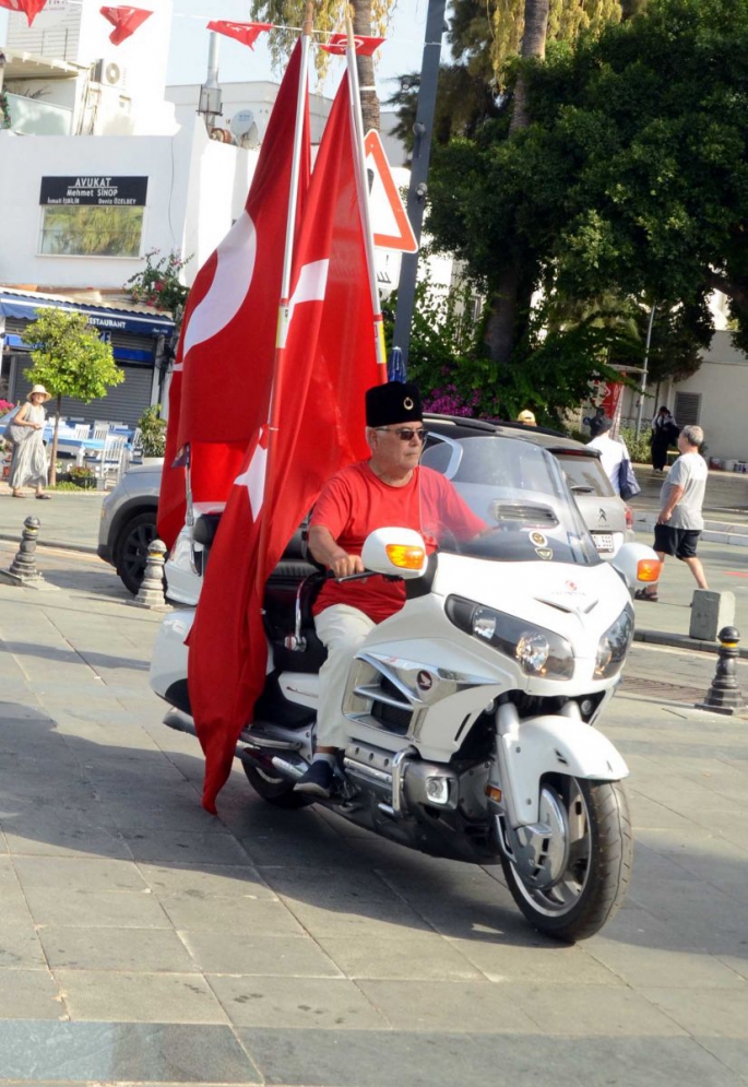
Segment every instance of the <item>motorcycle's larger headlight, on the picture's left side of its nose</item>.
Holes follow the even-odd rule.
[[[570,680],[574,671],[571,646],[534,623],[506,612],[484,607],[464,596],[448,596],[447,617],[465,634],[489,642],[506,657],[518,661],[525,675],[543,680]]]

